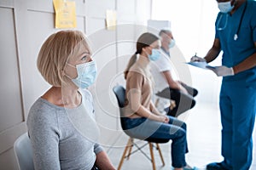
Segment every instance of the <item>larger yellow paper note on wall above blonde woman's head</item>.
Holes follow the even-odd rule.
[[[67,0],[53,0],[55,7],[55,28],[77,27],[76,3]]]

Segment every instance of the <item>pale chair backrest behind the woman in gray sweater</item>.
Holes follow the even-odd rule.
[[[14,150],[20,170],[34,170],[32,145],[27,133],[15,140]]]

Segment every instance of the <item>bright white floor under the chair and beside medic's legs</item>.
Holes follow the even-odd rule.
[[[195,108],[184,113],[179,119],[182,119],[188,126],[188,143],[189,153],[186,155],[186,160],[191,166],[205,169],[207,163],[212,161],[221,161],[220,155],[220,118],[218,105],[210,105],[198,103]],[[124,145],[127,142],[128,137],[122,133],[115,141],[113,148],[108,148],[108,156],[113,165],[118,167],[119,160],[124,151]],[[250,170],[256,169],[256,133],[253,133],[254,150],[253,150],[253,164]],[[142,141],[137,141],[141,144]],[[156,160],[156,167],[160,170],[171,169],[171,142],[166,144],[160,144],[160,148],[165,157],[166,166],[161,166],[160,156],[157,150],[154,150],[154,156]],[[149,154],[148,146],[143,149]],[[124,170],[149,170],[152,169],[152,164],[141,153],[137,152],[131,156],[130,160],[125,160],[123,167]]]

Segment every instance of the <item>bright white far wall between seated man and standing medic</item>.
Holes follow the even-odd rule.
[[[175,50],[183,56],[177,56],[177,52],[171,50],[172,59],[183,57],[189,61],[191,56],[197,53],[204,57],[212,47],[214,39],[214,23],[218,14],[216,1],[204,0],[153,0],[152,19],[170,20],[174,38],[177,42]],[[221,65],[220,58],[211,65]],[[205,71],[189,66],[192,86],[199,89],[197,100],[218,105],[218,92],[221,78],[215,76],[212,71]]]

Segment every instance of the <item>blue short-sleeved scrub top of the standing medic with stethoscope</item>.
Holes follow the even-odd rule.
[[[233,67],[244,59],[256,53],[254,42],[256,42],[256,1],[247,1],[247,8],[241,21],[238,39],[234,36],[239,27],[241,14],[246,7],[243,3],[232,15],[218,13],[215,22],[215,38],[218,38],[223,50],[222,65]],[[224,77],[223,81],[241,81],[256,87],[256,67],[247,71],[241,71],[235,76]]]

